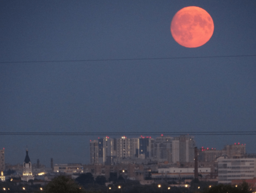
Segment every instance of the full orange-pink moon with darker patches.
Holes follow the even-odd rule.
[[[210,40],[214,31],[211,15],[200,7],[184,7],[173,17],[171,33],[184,47],[199,47]]]

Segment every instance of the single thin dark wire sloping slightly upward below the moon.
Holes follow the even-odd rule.
[[[0,64],[10,63],[50,63],[50,62],[97,62],[97,61],[132,61],[132,60],[172,60],[172,59],[195,59],[195,58],[230,58],[230,57],[254,57],[253,55],[233,55],[233,56],[194,56],[194,57],[168,57],[168,58],[123,58],[123,59],[96,59],[96,60],[42,60],[42,61],[12,61],[0,62]]]

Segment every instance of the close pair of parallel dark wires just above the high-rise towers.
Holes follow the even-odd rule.
[[[234,132],[0,132],[0,135],[57,135],[57,136],[96,136],[96,135],[256,135],[256,131]]]

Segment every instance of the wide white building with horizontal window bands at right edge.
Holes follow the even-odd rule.
[[[221,156],[218,161],[218,183],[229,184],[235,179],[253,179],[256,177],[256,158],[227,158]]]

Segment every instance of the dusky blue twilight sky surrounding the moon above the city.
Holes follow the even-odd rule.
[[[198,48],[170,33],[187,6],[214,21]],[[0,132],[255,131],[255,7],[252,0],[2,0]],[[113,60],[136,58],[170,59]],[[197,147],[240,142],[256,153],[255,135],[194,136]],[[0,147],[10,164],[24,161],[27,146],[32,163],[89,164],[89,140],[98,137],[0,135]]]

